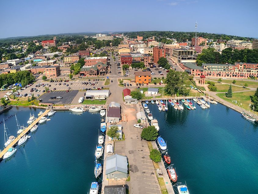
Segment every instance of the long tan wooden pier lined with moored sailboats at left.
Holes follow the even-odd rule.
[[[50,111],[50,109],[45,110],[45,112],[44,112],[42,115],[40,115],[33,123],[31,123],[31,125],[29,125],[26,129],[24,129],[24,131],[21,132],[7,147],[5,147],[5,149],[0,153],[0,159],[5,155],[5,153],[9,150],[9,148],[14,147],[14,145],[16,145],[16,144],[18,143],[18,141],[20,140],[20,138],[21,138],[22,136],[24,136],[26,133],[28,133],[28,132],[31,130],[31,128],[32,128],[34,125],[36,125],[36,124],[38,123],[38,121],[39,121],[42,117],[44,117],[44,116],[46,116],[46,115],[48,114],[49,111]]]

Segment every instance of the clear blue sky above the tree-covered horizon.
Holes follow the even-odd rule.
[[[258,0],[2,0],[0,38],[103,31],[258,36]]]

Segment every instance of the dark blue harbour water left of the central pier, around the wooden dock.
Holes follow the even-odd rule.
[[[20,124],[26,124],[31,113],[40,109],[16,108],[0,115],[0,121],[17,113]],[[44,111],[44,110],[43,110]],[[5,121],[16,136],[15,117]],[[24,147],[16,146],[15,156],[0,162],[0,193],[87,193],[94,177],[94,153],[98,143],[100,114],[81,115],[57,111],[35,133]],[[4,146],[3,124],[0,145]]]

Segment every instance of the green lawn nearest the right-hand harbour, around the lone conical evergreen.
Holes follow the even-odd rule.
[[[254,95],[255,91],[245,91],[245,92],[237,92],[232,93],[232,98],[227,98],[224,93],[216,94],[223,100],[226,100],[229,103],[232,103],[234,105],[237,105],[239,107],[244,108],[245,110],[250,110],[249,104],[250,104],[250,96]],[[237,101],[237,103],[234,103],[233,101]],[[240,105],[242,103],[242,105]]]

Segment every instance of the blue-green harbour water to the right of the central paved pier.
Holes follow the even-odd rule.
[[[193,193],[258,193],[257,125],[221,104],[202,110],[159,112],[159,135],[167,141],[177,182]]]

